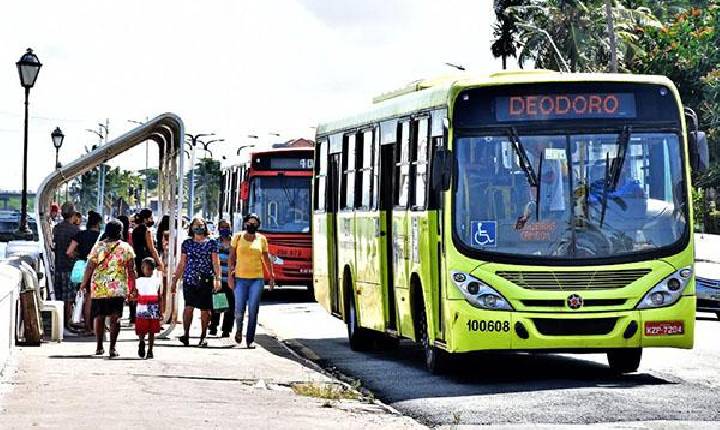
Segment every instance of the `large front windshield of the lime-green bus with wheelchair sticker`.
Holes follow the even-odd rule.
[[[455,153],[454,228],[465,247],[596,259],[686,235],[677,134],[464,135]]]

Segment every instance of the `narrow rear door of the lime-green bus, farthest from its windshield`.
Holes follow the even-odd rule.
[[[328,201],[328,217],[330,217],[330,231],[328,235],[329,250],[328,250],[328,279],[329,279],[329,292],[330,292],[330,307],[331,312],[339,315],[341,314],[340,309],[340,273],[338,272],[338,231],[339,226],[337,222],[337,214],[340,210],[340,177],[342,169],[342,160],[340,153],[330,154],[328,163],[328,190],[329,190],[329,201]]]

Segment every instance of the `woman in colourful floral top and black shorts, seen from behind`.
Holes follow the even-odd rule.
[[[135,279],[135,253],[122,241],[123,225],[110,221],[105,226],[105,239],[93,247],[88,256],[82,288],[88,290],[92,299],[92,318],[95,319],[97,350],[103,355],[105,317],[110,317],[110,358],[118,356],[115,344],[120,332],[120,317],[128,295],[128,282]]]

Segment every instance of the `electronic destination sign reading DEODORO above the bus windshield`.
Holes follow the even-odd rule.
[[[500,122],[635,117],[637,117],[637,107],[635,95],[632,93],[495,97],[495,119]]]

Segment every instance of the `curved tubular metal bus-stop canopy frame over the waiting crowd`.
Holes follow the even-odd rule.
[[[38,223],[38,234],[44,245],[43,259],[45,267],[49,268],[49,282],[53,296],[55,262],[52,250],[52,232],[47,214],[55,190],[61,184],[97,168],[108,160],[148,140],[155,141],[159,148],[158,209],[160,214],[170,215],[170,249],[168,270],[166,270],[165,274],[167,285],[170,285],[172,277],[170,268],[176,265],[176,256],[180,247],[177,232],[182,226],[184,133],[185,129],[180,117],[172,113],[159,115],[105,145],[98,146],[92,152],[68,163],[66,166],[53,171],[40,184],[35,203],[35,216]]]

